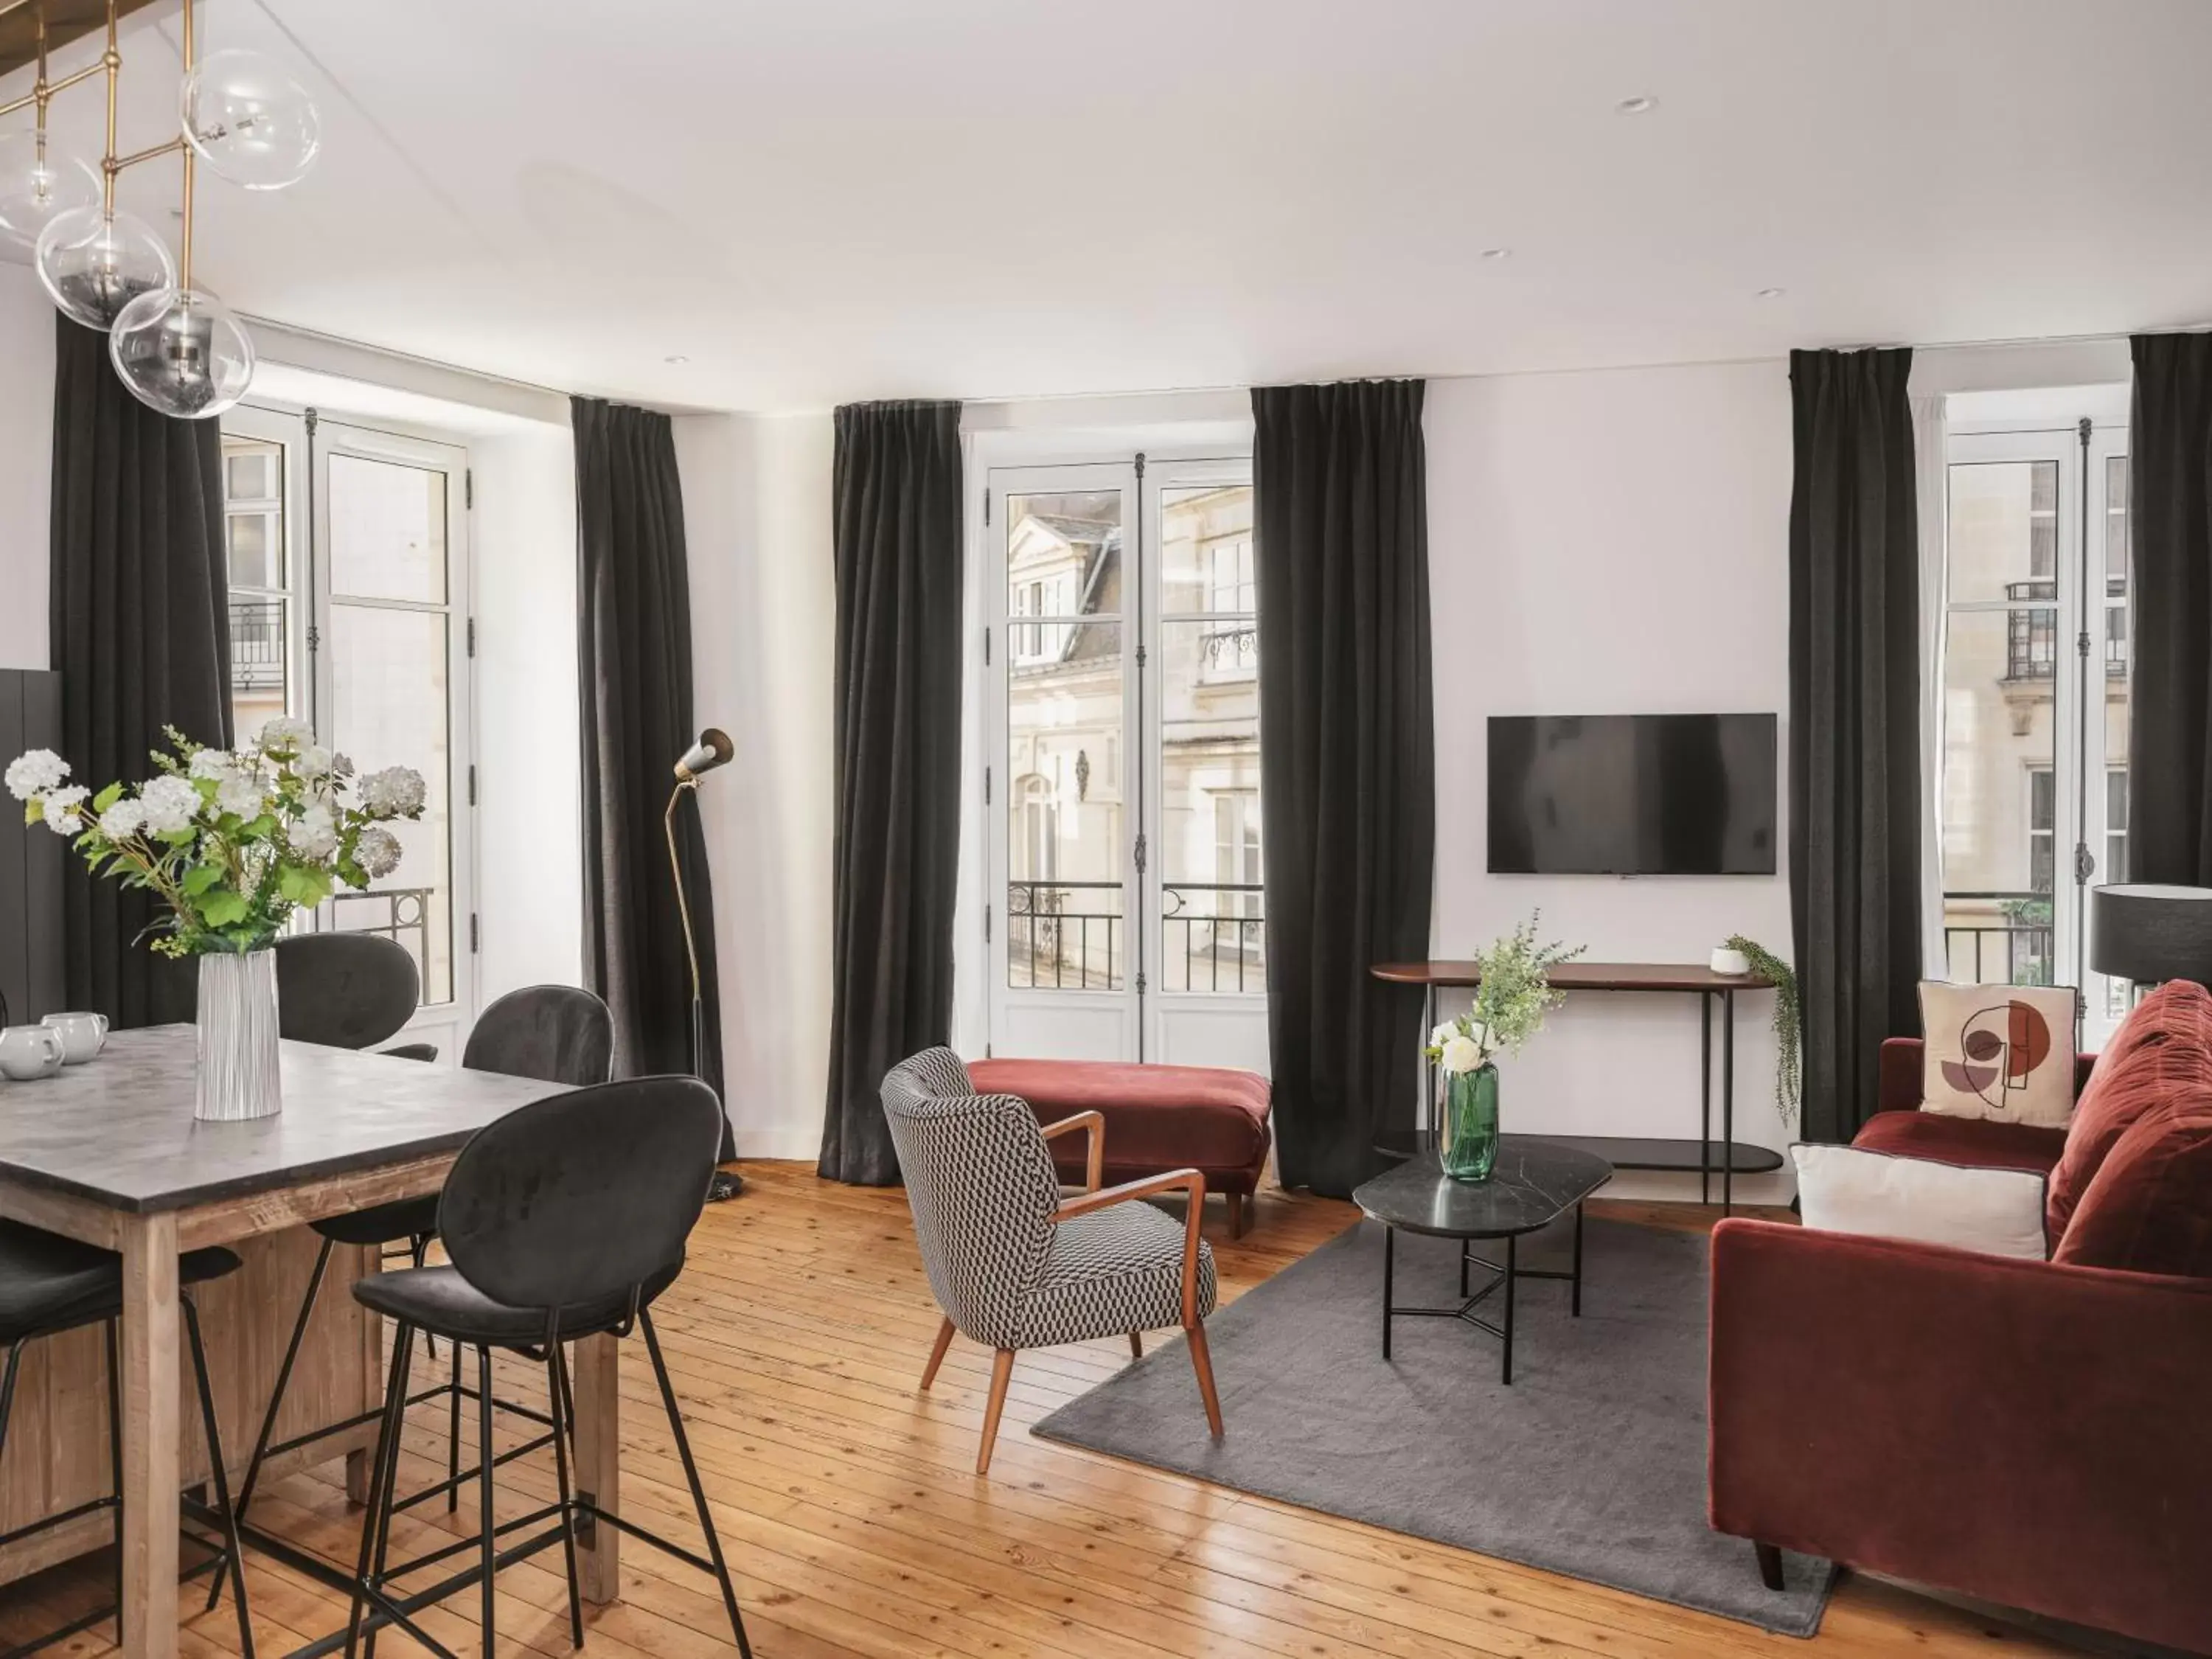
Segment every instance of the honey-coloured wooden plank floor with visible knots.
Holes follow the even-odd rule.
[[[1197,1480],[1031,1440],[1026,1427],[1113,1376],[1126,1345],[1024,1354],[989,1480],[973,1469],[989,1356],[958,1340],[933,1394],[916,1391],[938,1312],[929,1301],[900,1192],[841,1188],[790,1164],[745,1166],[750,1190],[714,1206],[692,1234],[690,1265],[659,1305],[677,1389],[737,1571],[754,1652],[947,1655],[998,1659],[1752,1659],[1809,1655],[2055,1655],[2064,1648],[1902,1590],[1851,1579],[1816,1641],[1332,1520]],[[1593,1212],[1608,1206],[1593,1206]],[[1219,1206],[1217,1206],[1219,1210]],[[1681,1206],[1610,1206],[1617,1217],[1703,1225]],[[1270,1192],[1256,1225],[1225,1243],[1208,1234],[1223,1298],[1250,1290],[1354,1221],[1354,1210]],[[515,1398],[542,1400],[529,1367]],[[1192,1407],[1197,1409],[1197,1407]],[[1234,1433],[1234,1422],[1230,1425]],[[504,1442],[502,1442],[504,1444]],[[403,1480],[442,1473],[445,1416],[418,1407]],[[688,1537],[690,1511],[641,1347],[624,1356],[624,1511]],[[546,1462],[546,1467],[538,1467]],[[281,1528],[352,1562],[358,1511],[336,1467],[296,1475],[254,1502]],[[544,1502],[546,1458],[500,1471],[500,1513]],[[263,1506],[265,1502],[265,1506]],[[473,1531],[473,1491],[451,1531]],[[414,1511],[394,1551],[442,1542],[440,1511]],[[1745,1548],[1745,1573],[1752,1571]],[[710,1582],[626,1542],[624,1601],[588,1613],[602,1659],[728,1655]],[[254,1562],[254,1641],[274,1659],[345,1621],[345,1601]],[[97,1604],[97,1573],[62,1568],[0,1590],[0,1646]],[[226,1597],[192,1610],[186,1659],[237,1652]],[[564,1655],[560,1553],[500,1575],[500,1652]],[[476,1593],[427,1617],[476,1655]],[[108,1650],[108,1626],[55,1652]],[[383,1637],[385,1652],[416,1650]]]

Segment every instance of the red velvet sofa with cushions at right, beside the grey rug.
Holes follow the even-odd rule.
[[[1710,1517],[1778,1548],[2212,1652],[2212,995],[2146,998],[2066,1130],[1916,1110],[1858,1146],[2048,1175],[2051,1261],[1723,1221]],[[1750,1564],[1745,1564],[1750,1571]]]

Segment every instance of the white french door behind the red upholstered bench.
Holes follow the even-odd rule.
[[[993,469],[991,1048],[1267,1064],[1248,458]]]

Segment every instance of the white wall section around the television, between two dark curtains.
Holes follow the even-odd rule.
[[[1431,380],[1425,431],[1436,956],[1467,956],[1542,907],[1544,936],[1586,945],[1590,960],[1701,962],[1736,931],[1787,958],[1783,872],[1621,880],[1484,869],[1491,714],[1736,710],[1787,721],[1787,365]],[[1783,730],[1783,752],[1787,741]],[[1741,998],[1736,1135],[1785,1146],[1770,1013],[1772,998]],[[1509,1130],[1694,1137],[1697,1004],[1577,995],[1502,1073]],[[1694,1177],[1624,1177],[1617,1190],[1694,1194]],[[1739,1197],[1781,1190],[1778,1177],[1739,1183]]]

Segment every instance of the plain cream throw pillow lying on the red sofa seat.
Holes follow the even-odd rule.
[[[1860,1146],[1792,1146],[1807,1228],[2044,1261],[2044,1177]]]

